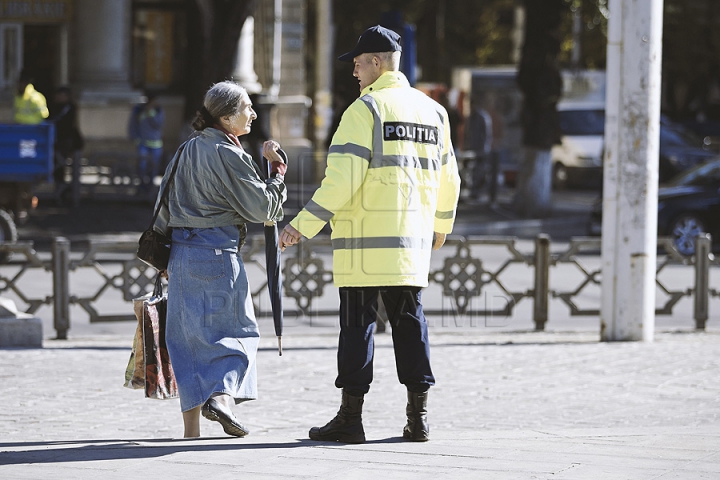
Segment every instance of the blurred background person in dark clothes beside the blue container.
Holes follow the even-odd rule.
[[[68,86],[59,87],[55,91],[50,104],[48,121],[55,124],[55,179],[56,195],[61,195],[65,188],[65,166],[68,159],[74,161],[75,153],[85,145],[78,127],[77,106],[72,98],[72,90]]]

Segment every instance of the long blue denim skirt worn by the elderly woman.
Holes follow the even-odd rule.
[[[260,334],[232,229],[173,231],[166,341],[183,412],[213,393],[257,398]]]

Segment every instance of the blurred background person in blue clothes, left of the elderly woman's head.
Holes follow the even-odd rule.
[[[133,107],[128,123],[128,135],[137,146],[138,175],[145,189],[160,172],[165,124],[165,111],[158,103],[157,94],[149,92],[146,97],[145,103]]]

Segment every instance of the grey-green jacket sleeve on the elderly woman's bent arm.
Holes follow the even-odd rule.
[[[218,151],[226,173],[222,188],[230,206],[248,222],[282,220],[282,204],[287,199],[283,178],[262,179],[247,153],[225,146],[220,146]]]

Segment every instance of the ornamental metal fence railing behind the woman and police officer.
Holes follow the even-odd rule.
[[[529,251],[522,251],[518,244],[515,237],[448,237],[445,246],[433,255],[429,275],[429,288],[438,290],[441,299],[434,303],[426,301],[426,314],[510,317],[521,301],[529,301],[535,329],[543,330],[550,300],[559,299],[571,316],[599,315],[599,305],[580,304],[588,299],[598,303],[599,294],[588,295],[587,290],[599,288],[602,281],[599,238],[573,238],[560,245],[559,251],[553,251],[550,238],[544,234],[535,238]],[[527,242],[524,244],[527,246]],[[34,250],[31,242],[0,243],[0,253],[10,254],[9,261],[0,265],[0,295],[14,295],[31,314],[42,306],[51,306],[59,339],[67,338],[71,306],[86,312],[91,323],[134,320],[131,314],[103,314],[99,307],[108,291],[119,292],[122,301],[131,302],[152,290],[156,271],[135,257],[137,242],[88,240],[73,247],[81,248],[71,250],[70,242],[63,237],[55,238],[51,251],[42,254]],[[691,298],[695,327],[704,330],[709,301],[720,297],[720,289],[710,285],[710,269],[720,266],[711,253],[710,235],[697,238],[692,257],[679,254],[669,238],[659,238],[658,248],[656,284],[666,298],[656,308],[656,314],[671,315],[681,299]],[[241,252],[246,268],[259,269],[262,278],[266,278],[263,237],[249,236]],[[300,242],[297,248],[283,254],[284,294],[291,300],[286,302],[286,315],[297,318],[337,315],[336,303],[321,301],[332,286],[330,253],[330,239],[317,237]],[[690,285],[670,286],[663,279],[663,272],[671,267],[690,269],[685,275]],[[518,268],[519,273],[507,273]],[[578,277],[576,281],[569,280],[570,269]],[[83,289],[71,281],[90,275],[94,280],[86,281]],[[24,281],[31,276],[31,281]],[[559,281],[561,278],[563,281]],[[255,285],[251,294],[257,316],[271,316],[269,303],[261,300],[267,282]],[[480,301],[489,290],[503,298],[500,307]],[[126,311],[132,312],[132,308]]]

